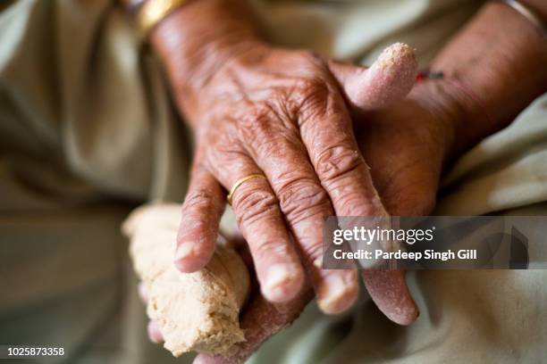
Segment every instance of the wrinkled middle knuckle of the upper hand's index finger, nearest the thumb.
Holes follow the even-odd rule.
[[[363,160],[357,150],[343,145],[332,145],[317,156],[316,170],[323,183],[330,183],[358,169],[362,163]]]

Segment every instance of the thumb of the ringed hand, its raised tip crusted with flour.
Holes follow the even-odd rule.
[[[417,76],[414,50],[403,43],[385,48],[370,68],[334,61],[329,68],[351,106],[364,112],[404,98]]]

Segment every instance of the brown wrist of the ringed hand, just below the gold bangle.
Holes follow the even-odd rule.
[[[150,33],[175,98],[191,98],[227,62],[262,45],[242,0],[189,0]]]

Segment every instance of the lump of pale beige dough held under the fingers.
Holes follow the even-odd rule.
[[[204,269],[181,273],[173,263],[180,219],[180,205],[156,204],[139,208],[123,226],[134,268],[147,286],[148,317],[174,356],[229,355],[233,344],[245,340],[239,315],[248,295],[248,269],[219,236]]]

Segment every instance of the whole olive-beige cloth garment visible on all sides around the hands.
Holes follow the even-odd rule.
[[[254,0],[279,45],[370,63],[385,45],[422,65],[480,5],[456,0]],[[547,205],[547,95],[457,162],[442,214],[540,214]],[[0,343],[63,346],[41,362],[168,363],[147,341],[122,219],[181,201],[191,140],[155,58],[109,0],[0,4]],[[227,217],[227,220],[230,217]],[[543,271],[409,273],[421,316],[398,327],[363,294],[325,317],[316,304],[250,360],[540,362]]]

